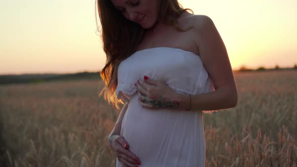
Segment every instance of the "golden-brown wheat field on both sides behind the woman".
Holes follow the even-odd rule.
[[[297,167],[297,70],[234,75],[238,105],[203,114],[205,166]],[[0,86],[0,165],[114,167],[107,137],[119,110],[101,88],[99,79]]]

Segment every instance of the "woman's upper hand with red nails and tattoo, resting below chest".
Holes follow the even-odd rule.
[[[151,109],[178,109],[180,103],[175,101],[177,95],[163,80],[153,80],[144,75],[144,80],[138,79],[138,101],[141,106]]]

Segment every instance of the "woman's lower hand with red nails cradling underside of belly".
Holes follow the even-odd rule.
[[[129,144],[124,137],[112,134],[109,137],[109,145],[118,160],[121,162],[122,166],[136,167],[137,164],[140,165],[140,162],[137,161],[136,155],[128,149]]]

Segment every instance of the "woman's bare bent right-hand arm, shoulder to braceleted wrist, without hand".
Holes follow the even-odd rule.
[[[238,93],[227,49],[214,23],[207,16],[196,16],[196,44],[203,65],[213,81],[214,92],[191,95],[191,110],[219,110],[237,105]],[[180,95],[181,106],[189,108],[190,97]]]

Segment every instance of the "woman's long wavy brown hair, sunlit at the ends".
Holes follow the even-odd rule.
[[[178,0],[158,0],[158,2],[160,3],[158,9],[160,22],[173,25],[178,31],[187,31],[191,28],[182,30],[177,22],[177,18],[183,12],[190,10],[193,13],[191,9],[183,9],[178,3]],[[124,102],[119,100],[115,95],[118,84],[118,66],[122,60],[136,51],[144,36],[145,29],[127,20],[119,10],[113,7],[110,0],[98,0],[98,3],[96,0],[95,3],[97,4],[102,26],[101,38],[103,41],[103,50],[106,53],[106,63],[100,72],[105,86],[99,96],[104,93],[104,99],[119,109],[118,104],[124,104]]]

